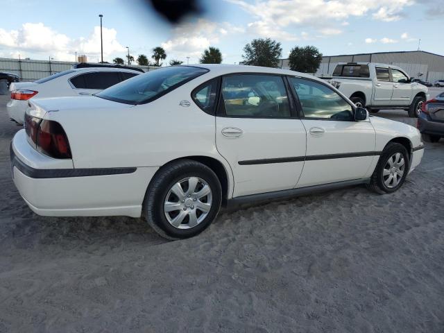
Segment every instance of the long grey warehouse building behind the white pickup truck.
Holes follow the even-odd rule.
[[[426,51],[359,53],[324,56],[316,76],[332,75],[338,62],[379,62],[401,67],[413,78],[434,83],[444,79],[444,56]],[[281,68],[289,69],[289,60],[281,60]]]

